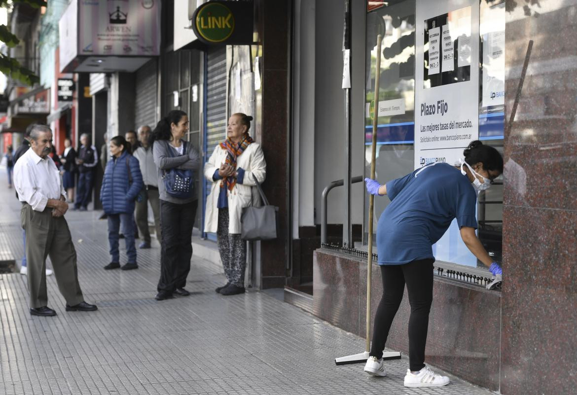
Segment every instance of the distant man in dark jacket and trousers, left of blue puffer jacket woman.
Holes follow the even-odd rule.
[[[83,133],[80,136],[80,149],[76,158],[78,165],[78,189],[74,209],[86,211],[88,203],[92,201],[92,186],[94,185],[94,172],[98,164],[98,152],[96,147],[90,144],[90,136]]]

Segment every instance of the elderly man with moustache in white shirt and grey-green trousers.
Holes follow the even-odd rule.
[[[46,257],[50,256],[58,288],[66,300],[66,311],[94,311],[84,301],[78,284],[76,249],[64,215],[66,191],[54,161],[48,156],[52,131],[35,125],[29,149],[14,166],[14,187],[23,203],[20,218],[26,232],[30,314],[48,317],[56,311],[47,306]]]

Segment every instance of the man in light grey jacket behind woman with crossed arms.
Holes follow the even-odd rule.
[[[140,234],[143,235],[143,241],[138,248],[148,249],[151,246],[150,231],[148,230],[148,202],[154,214],[154,224],[156,227],[156,239],[161,242],[162,238],[160,230],[160,201],[158,194],[158,172],[154,164],[154,156],[152,154],[152,147],[150,146],[149,126],[141,126],[138,128],[138,141],[140,147],[133,151],[134,157],[138,159],[140,164],[140,172],[143,175],[143,189],[140,195],[143,197],[141,201],[136,202],[136,224]]]

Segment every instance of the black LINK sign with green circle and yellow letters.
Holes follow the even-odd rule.
[[[194,11],[192,21],[205,44],[252,44],[252,1],[209,1]]]

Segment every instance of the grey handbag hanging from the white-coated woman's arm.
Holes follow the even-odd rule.
[[[249,241],[276,239],[276,212],[279,208],[268,204],[263,189],[260,187],[254,174],[252,174],[252,176],[264,205],[260,207],[250,206],[242,209],[241,238]]]

